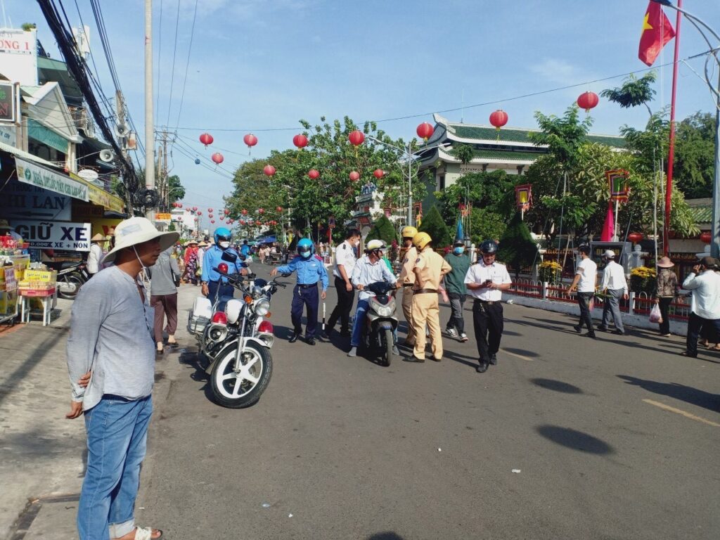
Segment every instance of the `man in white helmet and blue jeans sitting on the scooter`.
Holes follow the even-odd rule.
[[[371,283],[387,282],[397,285],[397,278],[387,268],[387,264],[382,261],[382,240],[370,240],[365,247],[365,255],[356,262],[353,275],[351,278],[353,287],[358,289],[358,305],[355,309],[355,320],[353,321],[353,335],[350,338],[350,351],[348,356],[357,356],[358,347],[362,338],[365,321],[367,318],[367,310],[370,302],[368,299],[372,297],[372,293],[365,292],[365,287]],[[393,343],[392,352],[400,354],[397,345]]]

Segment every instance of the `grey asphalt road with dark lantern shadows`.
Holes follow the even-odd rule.
[[[281,338],[290,295],[274,299]],[[192,350],[169,356],[143,524],[173,540],[717,539],[720,356],[632,330],[593,341],[515,305],[505,318],[486,374],[472,338],[389,368],[342,338],[281,339],[247,410],[208,400]]]

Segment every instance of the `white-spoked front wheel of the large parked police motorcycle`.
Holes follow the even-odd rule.
[[[248,343],[240,358],[240,372],[235,373],[238,342],[220,351],[210,374],[212,396],[218,405],[241,409],[255,405],[270,383],[272,356],[257,343]]]

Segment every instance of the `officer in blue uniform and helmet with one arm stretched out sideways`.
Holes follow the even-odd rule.
[[[294,327],[289,342],[294,343],[302,334],[302,306],[307,306],[307,326],[305,327],[305,341],[308,345],[315,345],[315,334],[318,330],[318,279],[323,286],[320,297],[325,300],[328,290],[328,271],[317,257],[313,257],[315,246],[310,238],[301,238],[297,243],[297,257],[289,264],[277,266],[270,272],[271,276],[289,274],[297,271],[297,284],[292,291],[292,307],[290,318]]]

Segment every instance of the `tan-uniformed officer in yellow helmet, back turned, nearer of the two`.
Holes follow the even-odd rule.
[[[433,360],[439,362],[443,358],[443,337],[440,333],[440,307],[438,292],[444,294],[440,280],[442,276],[451,271],[447,261],[435,253],[431,246],[432,238],[428,233],[418,233],[413,238],[413,245],[418,250],[415,258],[415,284],[413,285],[413,333],[415,335],[415,350],[413,354],[405,356],[408,362],[425,361],[425,325],[430,330]]]

